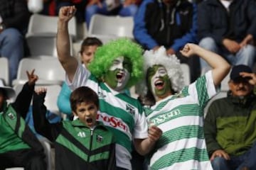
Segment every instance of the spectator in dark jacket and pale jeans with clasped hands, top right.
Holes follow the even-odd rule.
[[[198,5],[199,45],[225,57],[232,65],[255,63],[256,2],[208,0]],[[201,70],[209,65],[200,60]]]

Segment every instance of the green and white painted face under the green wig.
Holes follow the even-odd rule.
[[[126,57],[117,57],[105,74],[105,82],[115,91],[124,90],[130,78],[132,64]]]

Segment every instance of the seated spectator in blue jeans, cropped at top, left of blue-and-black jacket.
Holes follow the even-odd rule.
[[[85,8],[87,28],[96,13],[104,15],[134,16],[141,0],[90,0]]]

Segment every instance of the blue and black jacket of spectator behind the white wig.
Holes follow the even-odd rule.
[[[159,1],[144,0],[134,17],[134,38],[147,50],[164,45],[178,52],[187,42],[196,42],[196,13],[196,4],[186,0],[169,10]]]

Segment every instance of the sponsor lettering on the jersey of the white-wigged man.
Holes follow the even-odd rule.
[[[176,109],[174,111],[162,113],[159,116],[156,116],[155,118],[151,119],[151,123],[154,123],[154,125],[159,125],[161,123],[165,123],[166,121],[171,120],[176,115],[181,114],[181,111],[179,109]]]

